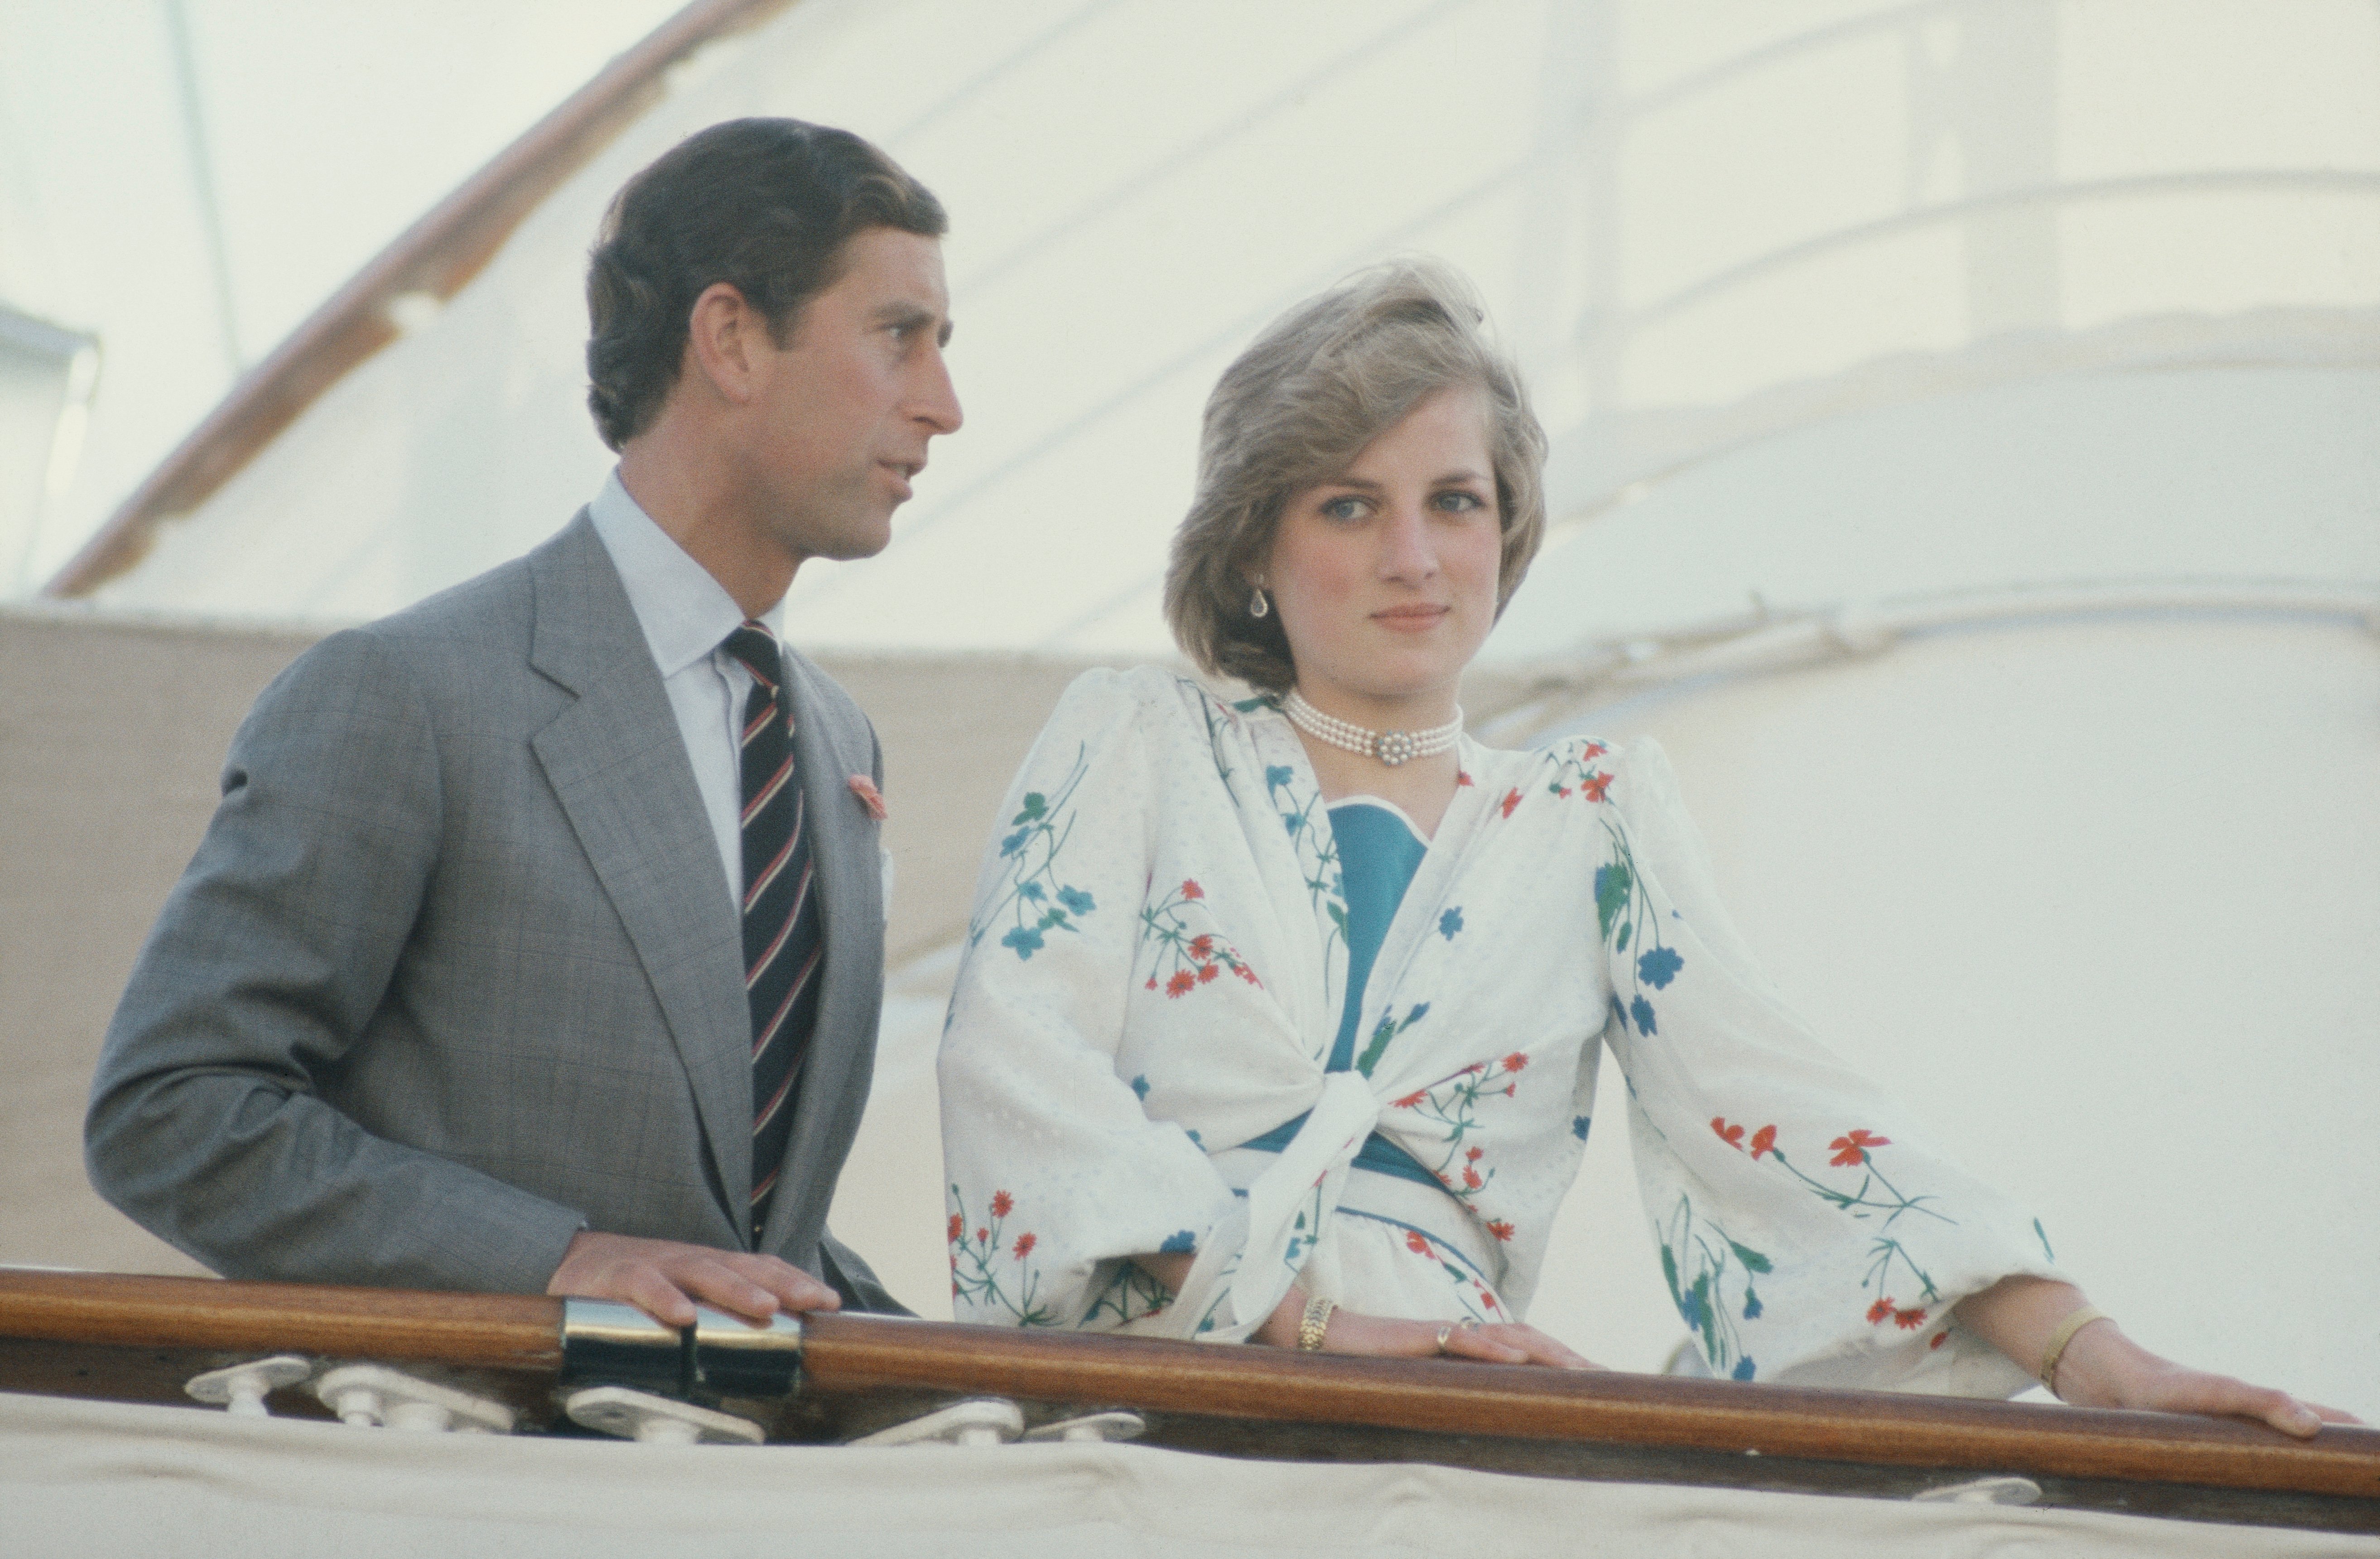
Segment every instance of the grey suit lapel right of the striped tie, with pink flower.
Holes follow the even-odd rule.
[[[771,1200],[762,1250],[781,1250],[788,1235],[802,1245],[826,1226],[826,1197],[816,1185],[840,1169],[859,1126],[869,1073],[876,1064],[873,1012],[883,985],[883,866],[876,821],[852,795],[850,778],[871,774],[873,752],[854,750],[847,731],[835,731],[819,693],[819,671],[797,655],[785,657],[793,690],[793,750],[809,819],[809,854],[826,923],[826,957],[819,966],[819,1026],[802,1057],[795,1090],[793,1135],[785,1142],[781,1195]],[[840,740],[838,740],[840,738]],[[790,1195],[788,1195],[790,1192]],[[797,1219],[814,1228],[797,1228]],[[795,1252],[804,1254],[804,1252]]]

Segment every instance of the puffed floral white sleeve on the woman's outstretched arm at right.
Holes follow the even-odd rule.
[[[2006,1397],[2025,1369],[1952,1321],[2056,1278],[2042,1226],[1904,1123],[1752,964],[1652,740],[1611,783],[1595,871],[1637,1185],[1716,1376]]]

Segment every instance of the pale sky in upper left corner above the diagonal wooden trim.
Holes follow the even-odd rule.
[[[178,0],[240,357],[681,0]],[[0,302],[102,338],[33,583],[228,388],[176,0],[0,0]],[[0,581],[10,595],[12,581]]]

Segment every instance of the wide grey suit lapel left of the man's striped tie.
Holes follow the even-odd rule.
[[[585,512],[528,564],[528,664],[578,695],[531,747],[662,1004],[714,1185],[743,1228],[738,1209],[752,1200],[752,1014],[719,843],[662,674]]]

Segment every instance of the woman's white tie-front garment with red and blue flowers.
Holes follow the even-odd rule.
[[[1366,1314],[1521,1319],[1609,1045],[1714,1373],[2023,1390],[1949,1307],[2056,1276],[2040,1223],[1778,1002],[1661,750],[1459,762],[1330,1071],[1347,900],[1297,733],[1154,669],[1066,690],[942,1035],[959,1319],[1238,1340],[1299,1278]],[[1180,1292],[1142,1252],[1195,1252]]]

